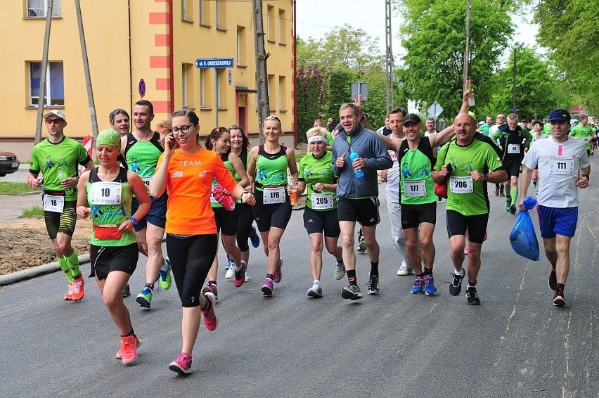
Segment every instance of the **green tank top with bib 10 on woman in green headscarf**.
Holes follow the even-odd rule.
[[[108,182],[98,177],[98,169],[91,170],[86,191],[94,225],[120,225],[131,217],[133,192],[127,181],[126,169],[120,169],[117,178]],[[96,246],[127,246],[136,242],[134,231],[123,233],[119,239],[97,239],[91,231],[91,244]]]

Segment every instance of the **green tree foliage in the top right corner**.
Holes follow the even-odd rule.
[[[540,0],[534,22],[539,44],[551,50],[549,59],[564,74],[571,94],[599,111],[599,8],[596,1]]]

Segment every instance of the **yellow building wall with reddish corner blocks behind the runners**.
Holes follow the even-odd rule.
[[[220,82],[224,86],[221,98],[226,100],[218,111],[219,125],[228,126],[238,120],[239,100],[236,86],[256,89],[255,82],[255,31],[253,29],[252,3],[220,2],[224,6],[221,29],[217,29],[217,1],[205,1],[210,8],[209,23],[200,25],[200,0],[182,0],[188,6],[187,20],[181,19],[181,1],[173,5],[174,59],[174,109],[183,103],[182,64],[188,63],[188,106],[195,108],[200,116],[202,131],[210,131],[216,122],[214,106],[214,70],[207,72],[207,109],[200,109],[200,70],[195,68],[196,58],[233,58],[236,65],[231,69],[232,82],[228,84],[228,69],[221,70]],[[0,109],[11,115],[16,123],[10,129],[0,131],[0,146],[18,152],[20,158],[28,159],[35,136],[37,107],[29,103],[29,72],[27,61],[41,61],[44,44],[45,18],[25,18],[27,0],[6,1],[4,18],[0,25],[3,53],[0,58],[3,72],[4,96]],[[86,93],[81,47],[77,30],[75,4],[72,0],[60,0],[62,16],[53,18],[49,60],[62,60],[64,68],[65,104],[58,106],[65,113],[68,125],[65,134],[82,137],[91,134],[91,117]],[[271,18],[268,17],[272,6]],[[131,73],[129,72],[129,15],[127,1],[103,0],[81,1],[86,45],[88,51],[92,87],[96,105],[98,130],[109,127],[108,113],[114,108],[131,109],[131,103],[140,99],[138,82],[146,81],[145,99],[156,105],[155,122],[169,115],[171,78],[168,65],[156,66],[167,60],[169,47],[165,37],[169,34],[169,3],[166,0],[131,1]],[[189,9],[191,7],[191,9]],[[274,115],[281,117],[283,130],[292,129],[293,70],[292,70],[292,1],[264,1],[264,29],[271,25],[272,33],[265,36],[266,51],[271,53],[268,73],[273,86],[270,103]],[[279,34],[279,16],[284,15],[283,37]],[[274,17],[274,18],[273,18]],[[274,26],[273,25],[274,21]],[[237,28],[245,27],[245,65],[238,65]],[[271,39],[269,41],[268,39]],[[166,41],[167,41],[166,39]],[[162,42],[161,42],[162,41]],[[8,77],[8,78],[6,78]],[[279,84],[285,82],[284,101],[279,101]],[[10,95],[6,95],[10,94]],[[281,102],[285,109],[281,109]],[[258,120],[256,94],[248,93],[245,101],[247,131],[257,132]],[[46,136],[45,127],[42,137]],[[24,144],[25,143],[25,144]]]

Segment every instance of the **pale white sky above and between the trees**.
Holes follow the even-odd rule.
[[[378,37],[382,53],[385,53],[385,0],[297,0],[297,35],[302,39],[314,37],[321,39],[335,26],[345,23],[361,28],[373,37]],[[392,11],[393,12],[393,11]],[[528,18],[528,20],[527,20]],[[516,41],[526,45],[534,45],[538,26],[529,23],[530,15],[517,17]],[[397,13],[392,15],[391,29],[393,34],[393,54],[404,55],[397,32],[401,18]]]

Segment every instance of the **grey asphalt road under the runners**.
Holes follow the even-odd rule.
[[[297,211],[283,235],[283,280],[275,285],[274,297],[265,298],[259,290],[265,273],[260,249],[251,249],[252,281],[242,287],[225,281],[224,269],[219,272],[219,328],[200,328],[193,373],[187,377],[168,370],[181,349],[181,306],[174,286],[158,291],[150,310],[141,309],[134,295],[125,299],[142,342],[131,367],[114,357],[119,336],[93,279],[86,279],[82,302],[62,300],[66,283],[59,273],[5,286],[0,291],[1,394],[599,397],[596,181],[591,175],[590,188],[580,192],[567,307],[551,304],[549,266],[542,255],[541,262],[532,262],[510,248],[515,216],[503,209],[504,198],[490,198],[479,307],[469,306],[463,295],[449,295],[444,202],[437,208],[434,233],[439,294],[411,295],[413,277],[396,276],[399,261],[382,203],[381,293],[356,302],[342,300],[347,280],[335,281],[330,255],[322,277],[325,296],[307,297],[309,240]],[[536,223],[536,214],[533,218]],[[366,292],[368,256],[357,255],[357,260],[359,285]],[[89,265],[83,269],[89,272]],[[141,289],[143,274],[140,265],[131,290]]]

